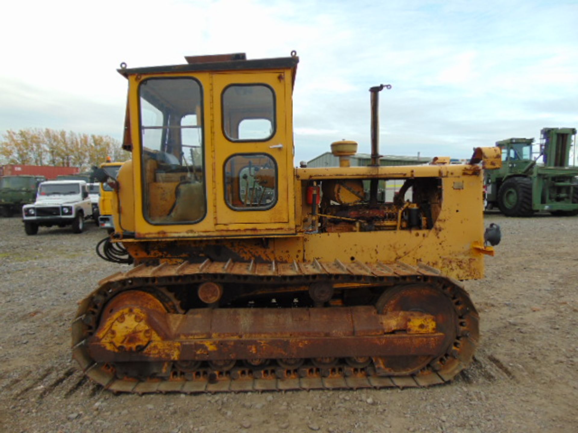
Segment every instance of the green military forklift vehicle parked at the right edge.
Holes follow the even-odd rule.
[[[578,215],[578,167],[570,165],[575,136],[575,128],[543,128],[538,152],[534,139],[497,141],[502,168],[486,171],[487,207],[507,216]]]

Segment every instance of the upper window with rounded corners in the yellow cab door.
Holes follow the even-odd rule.
[[[233,84],[223,91],[223,133],[231,141],[275,135],[275,94],[265,84]]]

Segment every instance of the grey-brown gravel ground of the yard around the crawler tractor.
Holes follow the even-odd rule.
[[[486,279],[466,282],[481,316],[475,362],[429,389],[113,395],[70,355],[76,303],[127,266],[99,259],[105,233],[0,218],[0,431],[576,431],[578,217],[505,218]]]

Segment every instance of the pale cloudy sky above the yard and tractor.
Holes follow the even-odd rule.
[[[466,158],[544,126],[578,126],[578,0],[21,1],[2,6],[0,134],[29,127],[120,140],[128,67],[247,53],[300,63],[296,155],[332,141]]]

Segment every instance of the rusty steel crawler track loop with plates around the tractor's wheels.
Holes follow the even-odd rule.
[[[355,368],[346,363],[331,367],[317,367],[307,360],[299,368],[266,366],[258,368],[234,367],[228,371],[197,368],[179,371],[175,367],[166,378],[117,377],[114,365],[95,362],[87,349],[87,338],[97,328],[103,306],[116,294],[125,290],[189,285],[202,281],[223,283],[277,283],[307,285],[312,282],[357,283],[384,287],[428,283],[451,301],[457,317],[456,337],[447,352],[433,359],[415,374],[377,375],[375,368]],[[162,293],[161,293],[162,294]],[[173,302],[174,300],[168,299]],[[427,266],[409,266],[403,263],[344,264],[335,262],[311,263],[234,263],[212,262],[146,266],[141,264],[126,273],[118,273],[99,282],[79,304],[72,324],[72,352],[84,374],[104,389],[127,393],[217,393],[242,391],[362,389],[397,387],[427,387],[449,382],[472,362],[479,335],[478,315],[468,294],[454,279],[443,277]],[[79,385],[80,386],[80,385]]]

